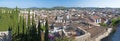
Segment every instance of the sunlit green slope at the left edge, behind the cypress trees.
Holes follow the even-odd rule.
[[[17,14],[0,12],[0,31],[6,31],[8,30],[8,27],[16,27],[16,22]]]

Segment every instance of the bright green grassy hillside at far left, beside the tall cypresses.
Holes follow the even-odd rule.
[[[16,27],[18,14],[14,9],[0,9],[0,31],[6,31],[9,27]]]

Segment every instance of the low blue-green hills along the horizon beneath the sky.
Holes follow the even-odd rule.
[[[8,8],[8,7],[0,7],[0,9],[14,9],[14,8]],[[105,7],[105,8],[100,8],[100,7],[64,7],[64,6],[56,6],[56,7],[52,7],[52,8],[40,8],[40,7],[30,7],[30,8],[19,8],[19,9],[32,9],[32,10],[67,10],[67,9],[81,9],[81,10],[85,10],[85,9],[115,9],[115,8],[110,8],[110,7]],[[118,9],[118,8],[117,8]]]

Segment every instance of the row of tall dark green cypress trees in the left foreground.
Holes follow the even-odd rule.
[[[30,19],[30,11],[28,13],[28,20],[23,16],[19,16],[18,8],[16,8],[16,14],[18,14],[18,24],[16,31],[12,27],[12,41],[49,41],[48,34],[48,21],[45,23],[45,32],[41,28],[40,20],[38,20],[38,26],[36,27],[36,22],[34,20],[34,15],[32,15],[32,20]],[[32,21],[32,22],[31,22]],[[27,24],[26,24],[27,23]],[[42,36],[44,35],[44,36]]]

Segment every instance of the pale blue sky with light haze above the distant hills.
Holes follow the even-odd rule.
[[[0,7],[9,8],[113,7],[120,8],[120,0],[0,0]]]

